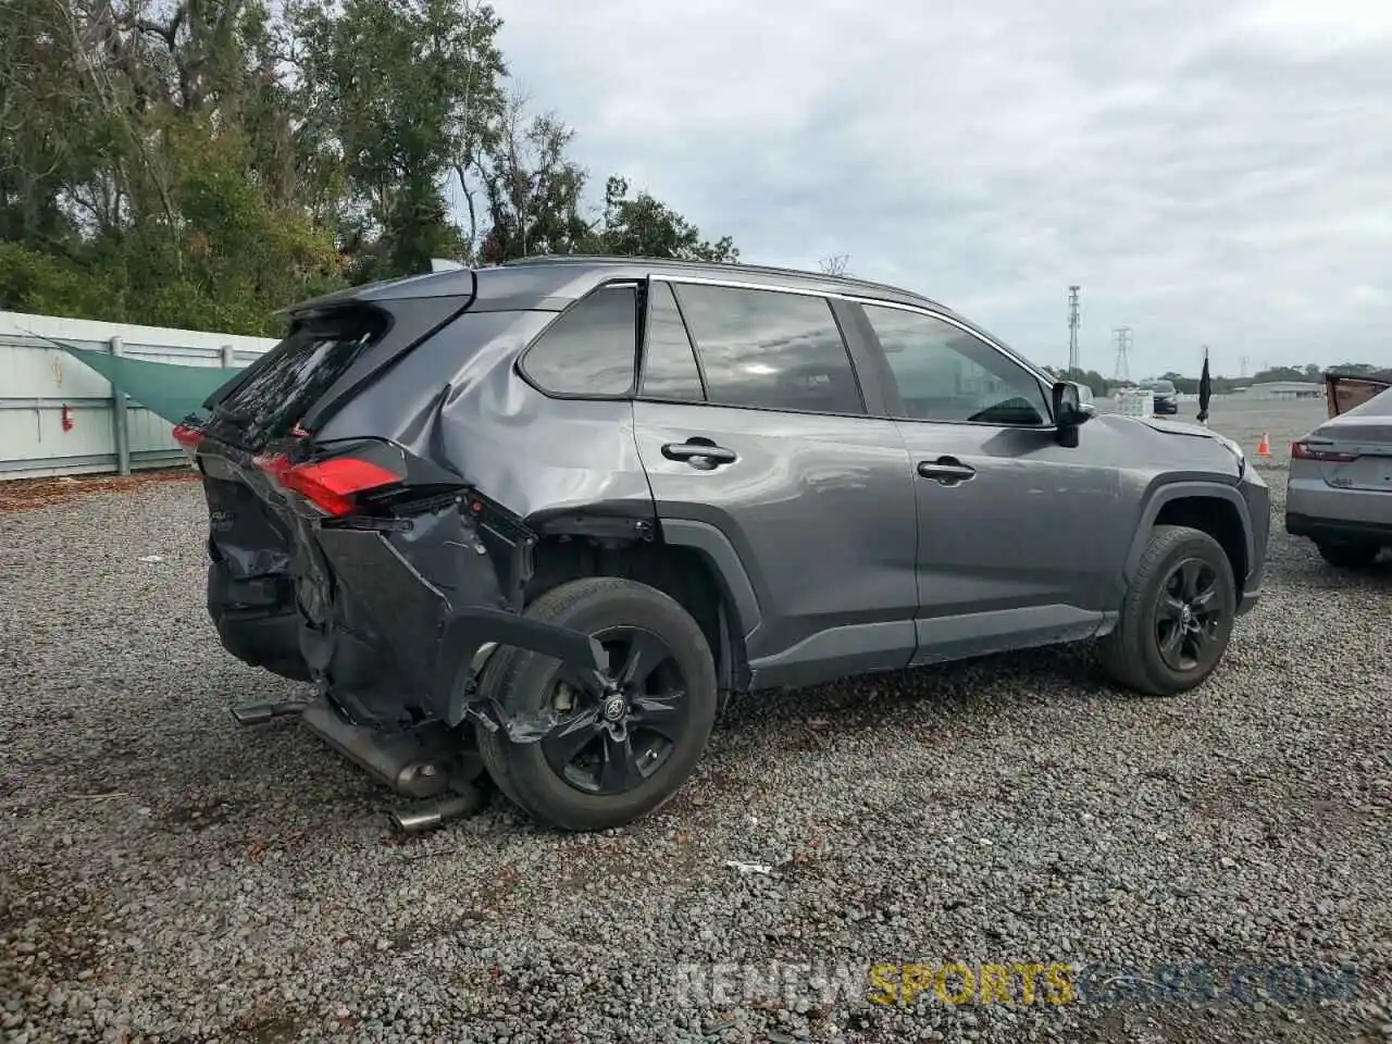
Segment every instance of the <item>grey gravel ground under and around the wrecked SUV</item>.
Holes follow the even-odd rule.
[[[1073,649],[742,702],[665,810],[606,835],[496,799],[400,841],[312,736],[235,728],[301,690],[219,647],[195,486],[0,515],[0,1038],[1392,1037],[1392,564],[1339,575],[1285,536],[1322,404],[1251,409],[1214,423],[1249,451],[1271,429],[1270,586],[1200,692],[1118,693]],[[774,960],[849,979],[741,990]],[[870,965],[952,960],[1359,979],[1300,1005],[864,999]],[[715,962],[727,994],[690,977]]]

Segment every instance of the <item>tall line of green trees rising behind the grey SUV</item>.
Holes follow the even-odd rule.
[[[274,333],[438,256],[736,258],[621,178],[592,216],[500,25],[482,0],[7,0],[0,308]]]

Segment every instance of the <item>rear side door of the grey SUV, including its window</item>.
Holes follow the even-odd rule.
[[[909,661],[912,472],[828,298],[654,277],[633,425],[664,537],[736,589],[756,685]]]

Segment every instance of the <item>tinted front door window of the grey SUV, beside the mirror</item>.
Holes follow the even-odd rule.
[[[866,305],[905,413],[919,420],[1044,425],[1044,388],[979,337],[933,316]]]

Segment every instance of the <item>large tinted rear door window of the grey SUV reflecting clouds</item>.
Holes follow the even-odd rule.
[[[682,284],[677,299],[713,404],[864,412],[841,329],[824,298]]]

